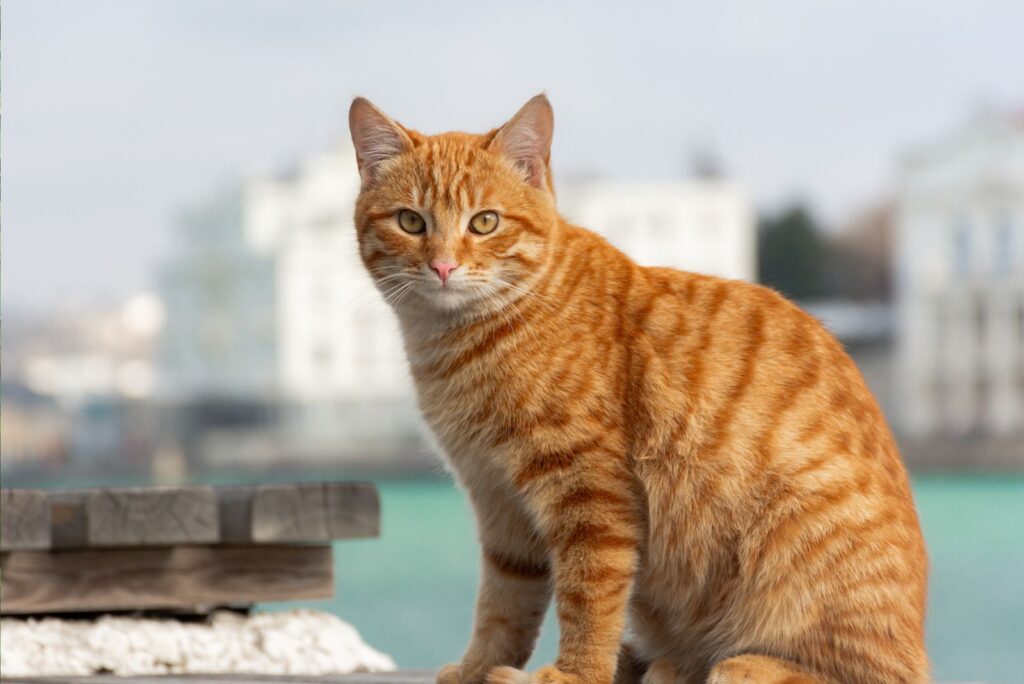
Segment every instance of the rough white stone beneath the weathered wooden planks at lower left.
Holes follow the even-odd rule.
[[[317,610],[222,610],[205,623],[118,617],[0,619],[5,677],[387,672],[394,661]]]

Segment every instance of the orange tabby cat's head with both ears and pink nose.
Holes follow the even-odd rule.
[[[485,311],[541,276],[557,229],[544,95],[482,135],[423,135],[361,97],[349,127],[359,254],[399,311]]]

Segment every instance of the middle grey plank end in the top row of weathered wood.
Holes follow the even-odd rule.
[[[89,546],[219,541],[213,487],[96,489],[87,495],[85,511]]]

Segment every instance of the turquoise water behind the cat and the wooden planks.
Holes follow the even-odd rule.
[[[307,472],[204,479],[338,477]],[[5,478],[5,486],[15,484],[48,483]],[[341,615],[404,668],[457,659],[469,638],[476,586],[471,513],[446,480],[379,480],[378,485],[383,533],[335,545],[335,598],[265,609],[306,605]],[[918,477],[914,493],[932,560],[928,642],[936,679],[1024,681],[1024,476]],[[549,614],[535,664],[550,660],[556,643],[557,626]]]

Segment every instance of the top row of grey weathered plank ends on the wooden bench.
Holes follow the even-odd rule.
[[[11,530],[4,527],[3,550],[299,544],[380,533],[380,498],[369,482],[27,491],[3,490],[5,500],[35,501],[31,511],[4,516]],[[28,541],[43,532],[47,543]]]

